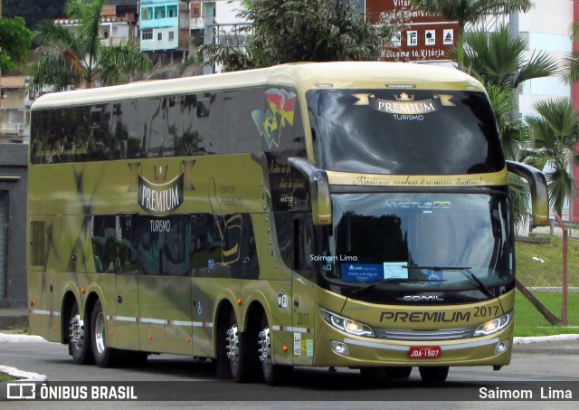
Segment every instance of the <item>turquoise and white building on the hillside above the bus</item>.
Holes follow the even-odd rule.
[[[179,1],[142,0],[140,37],[142,52],[161,52],[179,48]]]

